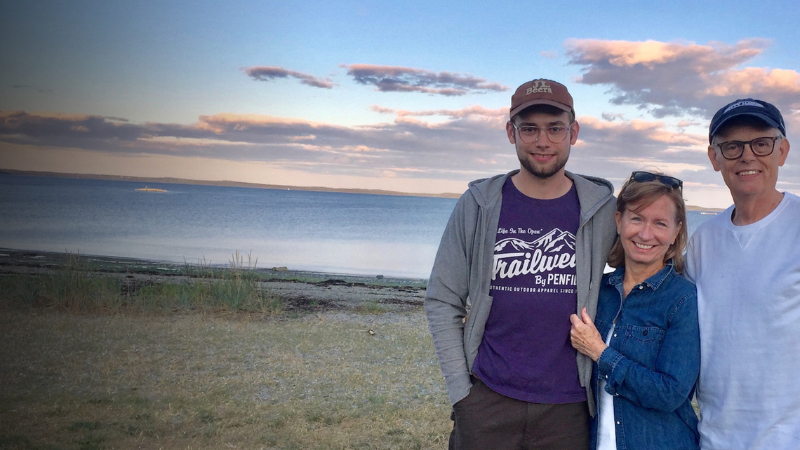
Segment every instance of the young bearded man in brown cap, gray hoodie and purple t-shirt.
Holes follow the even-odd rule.
[[[594,317],[616,229],[612,185],[565,171],[579,129],[566,87],[524,83],[506,124],[519,170],[470,183],[450,216],[425,310],[451,449],[588,448],[591,360],[569,316]]]

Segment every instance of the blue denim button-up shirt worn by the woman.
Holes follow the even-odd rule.
[[[593,387],[614,396],[617,449],[697,449],[691,405],[700,371],[697,291],[670,260],[623,298],[625,268],[603,276],[595,325],[610,345],[594,365]],[[599,395],[595,397],[599,406]],[[592,421],[592,449],[597,421]]]

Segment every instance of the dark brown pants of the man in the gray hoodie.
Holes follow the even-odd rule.
[[[586,402],[528,403],[500,395],[473,378],[453,406],[450,450],[585,450],[589,448]]]

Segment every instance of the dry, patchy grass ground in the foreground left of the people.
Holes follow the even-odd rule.
[[[435,449],[451,427],[420,310],[6,306],[0,361],[0,449]]]

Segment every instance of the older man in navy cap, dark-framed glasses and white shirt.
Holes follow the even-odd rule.
[[[703,450],[800,446],[800,198],[776,189],[789,154],[780,111],[736,100],[711,120],[708,157],[733,206],[687,248],[697,284]]]

